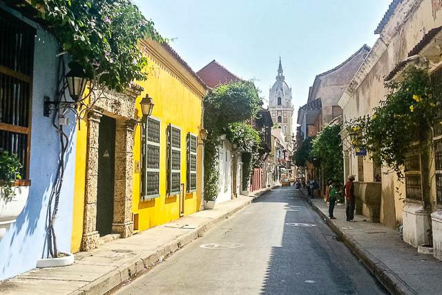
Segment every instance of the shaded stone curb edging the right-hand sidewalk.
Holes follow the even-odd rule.
[[[400,295],[416,295],[418,294],[412,287],[407,285],[401,278],[399,278],[395,272],[393,272],[387,265],[385,265],[381,260],[374,257],[366,249],[364,249],[361,244],[359,244],[354,238],[349,236],[345,231],[342,231],[340,227],[334,224],[330,218],[323,213],[316,204],[311,202],[311,200],[305,196],[305,193],[300,191],[305,200],[310,204],[310,206],[320,215],[321,218],[325,220],[325,223],[338,235],[338,237],[343,240],[345,245],[352,250],[354,256],[363,262],[365,267],[371,272],[384,287],[391,294]]]

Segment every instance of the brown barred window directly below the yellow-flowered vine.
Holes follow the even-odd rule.
[[[422,200],[421,154],[417,147],[405,155],[405,197]]]

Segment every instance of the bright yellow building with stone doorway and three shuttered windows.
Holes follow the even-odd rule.
[[[126,238],[201,207],[198,137],[207,88],[169,45],[145,40],[140,47],[148,79],[125,93],[106,91],[77,131],[73,252],[98,247],[102,236]],[[155,105],[142,117],[147,95]]]

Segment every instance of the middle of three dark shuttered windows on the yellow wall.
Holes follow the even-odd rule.
[[[167,193],[175,196],[181,185],[181,130],[169,124],[167,129]]]

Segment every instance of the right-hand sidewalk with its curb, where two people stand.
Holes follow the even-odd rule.
[[[302,193],[392,294],[442,294],[442,261],[432,255],[418,254],[417,249],[403,242],[398,231],[381,223],[367,222],[364,216],[346,221],[344,204],[335,207],[337,219],[330,220],[324,200],[311,200],[307,192]]]

